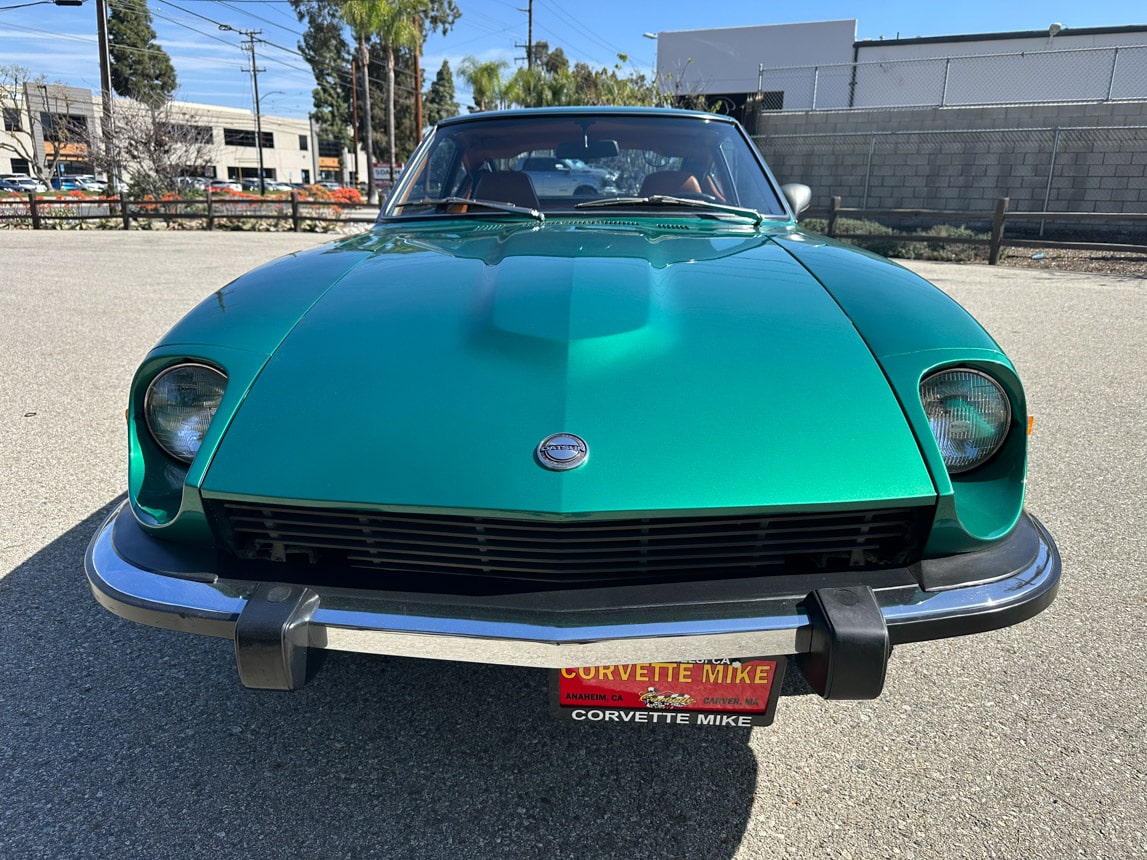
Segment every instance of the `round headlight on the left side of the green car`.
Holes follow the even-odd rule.
[[[227,377],[206,365],[175,365],[148,385],[147,425],[159,447],[192,462],[223,400]]]

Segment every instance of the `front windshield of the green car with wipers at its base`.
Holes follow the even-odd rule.
[[[414,154],[382,217],[600,217],[611,209],[786,217],[740,126],[704,115],[655,112],[491,115],[445,123]]]

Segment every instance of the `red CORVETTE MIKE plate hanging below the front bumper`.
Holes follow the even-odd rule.
[[[551,701],[578,722],[768,726],[785,657],[633,663],[551,672]]]

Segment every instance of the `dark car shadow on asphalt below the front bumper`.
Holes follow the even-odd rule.
[[[562,722],[544,671],[331,654],[244,689],[228,641],[92,599],[116,502],[0,579],[2,857],[728,858],[749,729]]]

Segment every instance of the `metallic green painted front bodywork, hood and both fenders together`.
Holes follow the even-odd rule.
[[[141,427],[147,383],[185,359],[228,375],[186,471]],[[1015,424],[952,480],[918,391],[955,365],[1000,381]],[[200,490],[537,517],[935,502],[938,555],[1014,525],[1024,409],[959,305],[791,225],[439,219],[268,264],[188,314],[133,385],[131,497],[181,540],[209,534]],[[533,461],[559,431],[588,440],[580,469]]]

